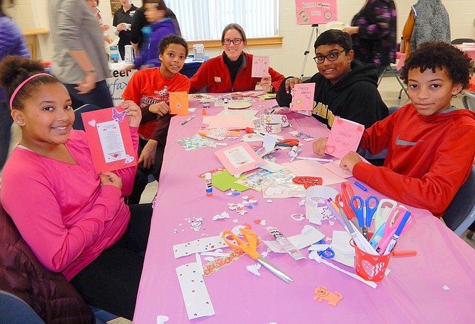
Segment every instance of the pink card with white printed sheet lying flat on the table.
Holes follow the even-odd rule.
[[[230,174],[233,174],[233,176],[262,167],[266,164],[266,162],[262,160],[262,157],[259,157],[247,143],[238,143],[219,150],[214,154],[216,154],[223,166]]]

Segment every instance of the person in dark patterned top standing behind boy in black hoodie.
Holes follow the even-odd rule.
[[[396,18],[393,0],[367,0],[354,15],[352,27],[342,29],[352,35],[354,58],[375,63],[378,77],[396,62]]]

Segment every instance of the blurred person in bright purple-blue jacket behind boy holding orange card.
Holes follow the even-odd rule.
[[[167,35],[177,34],[172,19],[167,18],[167,5],[163,0],[145,1],[145,18],[150,22],[150,26],[142,28],[146,40],[140,46],[134,64],[128,65],[127,70],[160,66],[158,58],[160,41]]]

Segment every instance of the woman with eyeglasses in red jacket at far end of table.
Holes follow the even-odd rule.
[[[284,75],[269,67],[264,77],[251,77],[252,54],[244,52],[247,45],[244,29],[237,23],[230,23],[221,35],[223,54],[203,62],[191,77],[190,93],[233,92],[254,90],[257,83],[264,91],[275,93]]]

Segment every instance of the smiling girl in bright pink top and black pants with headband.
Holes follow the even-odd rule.
[[[10,56],[0,71],[22,135],[2,174],[5,210],[47,269],[87,303],[131,319],[151,217],[150,205],[124,203],[136,167],[96,174],[86,134],[72,130],[65,86],[39,62]],[[140,108],[122,106],[137,150]]]

